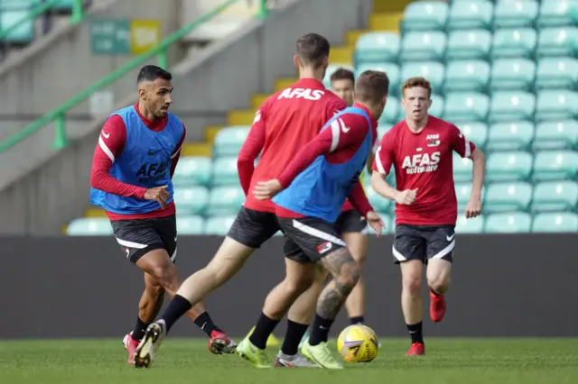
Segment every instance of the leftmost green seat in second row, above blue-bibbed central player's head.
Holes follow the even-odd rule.
[[[370,32],[359,36],[355,45],[355,64],[397,61],[401,38],[392,32]]]

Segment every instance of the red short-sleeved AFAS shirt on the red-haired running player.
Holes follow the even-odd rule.
[[[404,120],[384,134],[373,170],[385,176],[393,164],[398,190],[419,188],[414,204],[396,204],[396,224],[455,225],[452,151],[471,158],[475,149],[458,127],[433,116],[420,133],[411,132]]]

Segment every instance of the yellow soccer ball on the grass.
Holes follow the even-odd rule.
[[[367,325],[350,325],[337,338],[337,351],[344,361],[372,361],[379,352],[378,336]]]

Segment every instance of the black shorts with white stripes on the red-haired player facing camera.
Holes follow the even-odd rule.
[[[454,225],[396,225],[394,260],[396,264],[409,260],[429,259],[453,261]]]

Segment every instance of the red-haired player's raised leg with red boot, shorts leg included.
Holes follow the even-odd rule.
[[[432,227],[424,232],[426,243],[427,285],[430,288],[430,317],[434,323],[440,322],[445,315],[444,294],[450,288],[455,232],[453,225]]]

